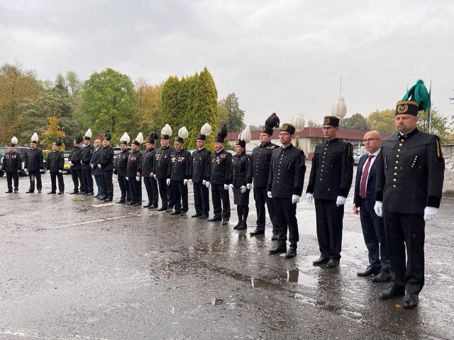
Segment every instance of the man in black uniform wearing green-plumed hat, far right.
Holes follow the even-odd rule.
[[[430,95],[417,81],[397,102],[399,132],[382,142],[377,159],[375,212],[384,218],[391,283],[382,299],[405,295],[402,305],[418,305],[424,285],[425,224],[438,212],[445,162],[440,139],[419,131],[418,112],[430,110]]]

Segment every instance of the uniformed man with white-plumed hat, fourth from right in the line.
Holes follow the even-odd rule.
[[[284,123],[279,132],[281,147],[274,149],[268,176],[267,196],[275,208],[275,223],[279,230],[277,246],[270,254],[285,253],[287,259],[297,255],[299,241],[297,203],[303,192],[306,164],[304,152],[292,144],[296,130],[304,128],[304,119],[297,115],[292,124]],[[287,229],[290,248],[287,251]]]

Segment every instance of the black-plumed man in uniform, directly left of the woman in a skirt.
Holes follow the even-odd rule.
[[[206,175],[206,187],[211,186],[211,200],[213,200],[214,216],[210,222],[221,221],[223,225],[230,220],[230,199],[228,197],[228,182],[232,155],[224,149],[224,139],[227,137],[227,126],[218,131],[214,137],[214,152],[211,153],[209,168]],[[221,205],[222,203],[222,205]]]

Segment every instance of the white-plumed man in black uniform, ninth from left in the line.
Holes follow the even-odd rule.
[[[143,135],[142,132],[139,132],[135,140],[131,142],[131,154],[128,156],[128,166],[126,167],[126,177],[128,177],[131,193],[131,202],[127,204],[135,207],[142,205],[142,178],[139,171],[142,160],[142,153],[139,148],[142,143]]]

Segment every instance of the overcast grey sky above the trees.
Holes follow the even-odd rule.
[[[321,123],[341,74],[347,118],[394,108],[420,78],[453,115],[453,38],[453,0],[0,0],[0,64],[149,84],[207,67],[254,125],[272,112]]]

